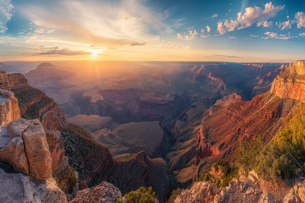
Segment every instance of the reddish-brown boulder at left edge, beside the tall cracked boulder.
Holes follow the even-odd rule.
[[[0,126],[0,161],[9,164],[16,172],[29,174],[29,164],[21,137],[10,137],[7,126]]]

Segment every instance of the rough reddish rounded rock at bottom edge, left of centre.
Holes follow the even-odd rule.
[[[121,192],[114,185],[102,182],[95,187],[79,191],[70,203],[115,203],[121,197]]]

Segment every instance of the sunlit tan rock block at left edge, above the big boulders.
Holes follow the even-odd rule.
[[[7,125],[17,118],[20,118],[20,111],[14,93],[0,89],[0,125]]]

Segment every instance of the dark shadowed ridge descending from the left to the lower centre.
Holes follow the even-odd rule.
[[[113,158],[109,149],[96,143],[89,131],[73,124],[62,136],[70,165],[89,187],[107,181],[125,194],[147,185],[153,187],[161,200],[167,197],[169,179],[163,159],[150,159],[144,151]]]

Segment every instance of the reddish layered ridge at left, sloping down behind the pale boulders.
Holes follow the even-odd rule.
[[[47,97],[44,92],[31,87],[23,74],[1,72],[0,77],[3,78],[2,82],[0,82],[0,88],[6,88],[15,93],[19,101],[20,114],[23,118],[39,119],[43,127],[48,130],[63,131],[68,128],[68,121],[54,100]],[[12,104],[15,105],[13,106],[14,108],[17,103],[13,102]],[[2,116],[2,113],[0,116]],[[18,118],[18,112],[15,112],[12,116],[15,116],[14,119]]]

